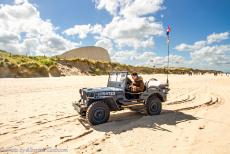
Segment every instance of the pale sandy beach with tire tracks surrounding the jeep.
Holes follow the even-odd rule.
[[[106,82],[107,76],[0,79],[1,153],[230,153],[230,77],[171,75],[161,115],[124,110],[91,127],[71,103],[79,88]]]

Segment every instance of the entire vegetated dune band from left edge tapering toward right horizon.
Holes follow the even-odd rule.
[[[77,68],[88,75],[106,75],[112,71],[139,72],[141,74],[167,73],[166,68],[150,68],[131,66],[119,63],[100,62],[88,59],[60,59],[59,57],[12,55],[0,51],[0,77],[47,77],[61,76],[57,64],[68,68]],[[170,74],[204,74],[222,73],[214,70],[198,70],[192,68],[170,68]]]

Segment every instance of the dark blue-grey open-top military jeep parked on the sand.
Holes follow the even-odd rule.
[[[82,88],[79,90],[81,99],[73,103],[74,109],[86,116],[92,125],[108,121],[110,111],[124,108],[143,110],[148,115],[161,113],[162,102],[166,101],[169,91],[167,84],[161,84],[157,79],[150,79],[145,83],[145,90],[140,93],[130,92],[132,81],[128,72],[111,72],[107,87]]]

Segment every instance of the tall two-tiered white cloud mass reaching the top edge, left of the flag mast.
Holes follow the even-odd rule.
[[[96,8],[107,10],[113,19],[101,31],[115,46],[151,48],[154,37],[163,34],[163,25],[151,13],[163,9],[163,0],[96,0]]]

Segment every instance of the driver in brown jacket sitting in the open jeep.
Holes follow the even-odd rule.
[[[143,78],[141,76],[138,76],[138,74],[136,72],[133,72],[131,74],[133,82],[130,85],[130,90],[132,93],[139,93],[139,92],[143,92],[145,89],[145,85],[143,82]]]

